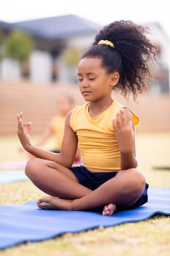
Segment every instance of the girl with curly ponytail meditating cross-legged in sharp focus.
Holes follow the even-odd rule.
[[[59,154],[42,150],[29,140],[31,123],[17,115],[18,137],[36,158],[26,165],[26,175],[43,192],[41,209],[101,209],[102,215],[133,209],[147,202],[145,178],[137,168],[135,127],[139,118],[111,98],[112,89],[124,96],[146,89],[148,61],[156,47],[145,37],[147,28],[131,21],[105,26],[78,67],[79,90],[88,102],[71,110]],[[25,131],[24,126],[27,126]],[[82,166],[71,167],[79,143]],[[103,208],[104,207],[104,208]]]

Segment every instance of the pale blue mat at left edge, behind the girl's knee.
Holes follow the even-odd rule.
[[[29,180],[24,171],[0,171],[0,183]]]

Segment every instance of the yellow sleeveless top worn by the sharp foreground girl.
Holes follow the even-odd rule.
[[[70,119],[70,127],[78,137],[83,166],[90,172],[119,172],[120,150],[112,119],[116,119],[116,111],[126,107],[113,101],[106,111],[91,117],[88,106],[89,102],[74,108]],[[139,117],[130,112],[136,127],[140,122]]]

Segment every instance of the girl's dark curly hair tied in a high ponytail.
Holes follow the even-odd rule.
[[[131,20],[115,21],[99,31],[82,58],[100,58],[107,74],[118,72],[119,82],[113,89],[125,97],[132,92],[135,100],[137,92],[147,90],[146,78],[153,79],[149,63],[156,61],[158,48],[144,35],[149,33],[148,27],[138,26]],[[98,44],[100,40],[111,41],[114,48]]]

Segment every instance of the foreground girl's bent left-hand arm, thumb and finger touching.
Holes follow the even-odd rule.
[[[68,112],[65,120],[65,132],[62,140],[62,147],[60,153],[53,153],[50,151],[43,150],[31,144],[29,133],[31,129],[31,123],[23,123],[23,113],[17,115],[18,118],[18,130],[17,134],[20,139],[23,148],[32,154],[34,157],[39,157],[42,159],[50,160],[61,164],[65,167],[72,166],[74,162],[74,157],[77,151],[77,135],[70,127],[70,118],[73,110]],[[24,126],[27,126],[25,130]]]

